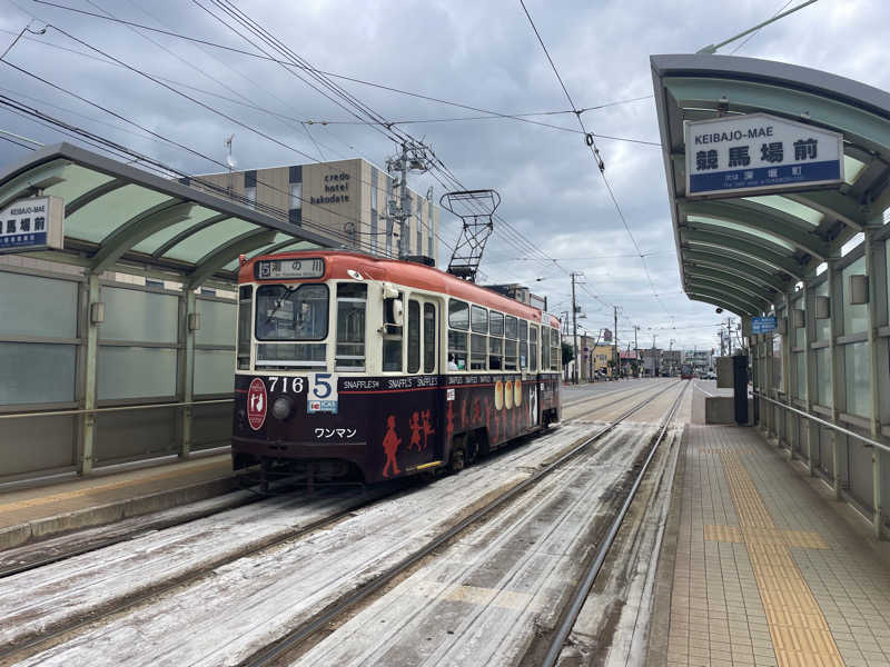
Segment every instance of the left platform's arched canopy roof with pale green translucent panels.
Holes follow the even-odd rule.
[[[238,257],[339,242],[235,201],[59,143],[0,172],[0,209],[31,196],[65,205],[63,247],[29,252],[93,272],[237,281]]]

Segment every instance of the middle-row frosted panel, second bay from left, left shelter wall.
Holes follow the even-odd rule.
[[[100,347],[97,366],[100,400],[176,394],[176,350]]]

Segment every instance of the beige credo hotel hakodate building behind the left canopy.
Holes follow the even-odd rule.
[[[205,181],[214,186],[206,187]],[[343,240],[347,248],[398,255],[398,229],[386,218],[387,201],[398,199],[393,179],[370,162],[355,158],[181,178],[182,183],[225,197],[244,197],[248,206],[286,217],[296,227]],[[407,255],[437,263],[439,208],[408,190],[411,216]],[[274,212],[271,212],[274,211]]]

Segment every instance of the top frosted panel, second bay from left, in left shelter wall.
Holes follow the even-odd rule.
[[[177,297],[103,287],[101,299],[105,322],[99,325],[100,339],[176,342]]]

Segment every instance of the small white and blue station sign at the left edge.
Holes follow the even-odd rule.
[[[61,197],[18,199],[0,210],[0,255],[61,249],[65,241]]]

